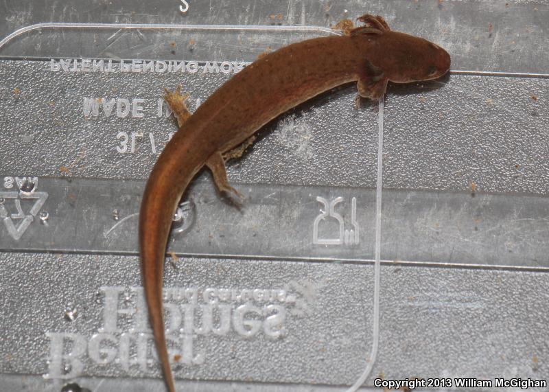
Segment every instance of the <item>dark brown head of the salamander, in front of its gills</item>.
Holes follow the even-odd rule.
[[[423,38],[399,32],[384,32],[377,41],[379,62],[391,82],[408,83],[440,78],[450,68],[450,56],[443,48]]]

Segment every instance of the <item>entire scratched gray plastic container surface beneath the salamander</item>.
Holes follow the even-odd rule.
[[[548,379],[549,3],[221,0],[189,1],[186,14],[179,4],[0,4],[0,38],[48,22],[274,27],[45,28],[0,48],[0,390],[60,391],[71,380],[91,391],[164,390],[135,234],[144,181],[176,129],[156,104],[164,87],[183,84],[192,110],[230,76],[51,71],[49,58],[244,62],[330,34],[277,26],[329,27],[366,12],[445,47],[452,69],[478,72],[389,86],[379,351],[365,385],[377,376]],[[142,99],[144,117],[86,117],[86,97]],[[181,389],[339,391],[362,373],[374,341],[379,107],[356,109],[354,97],[341,87],[261,131],[229,165],[248,196],[242,211],[218,198],[208,173],[196,178],[191,224],[170,242],[165,277],[170,334],[193,343],[174,367]],[[119,132],[136,133],[134,153],[117,152]],[[36,188],[23,176],[37,177]],[[358,244],[314,242],[318,196],[343,198],[347,230],[356,198]],[[194,290],[196,301],[185,298]],[[210,303],[212,292],[233,297]],[[261,327],[248,334],[238,314],[251,308],[246,318]],[[212,309],[214,327],[230,312],[228,330],[205,328]],[[272,316],[281,314],[280,324]]]

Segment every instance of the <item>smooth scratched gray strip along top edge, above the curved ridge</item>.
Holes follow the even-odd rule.
[[[0,4],[0,36],[41,22],[314,25],[329,27],[365,13],[383,15],[394,29],[449,49],[454,69],[546,73],[549,4],[546,0],[481,1],[188,1],[8,0]],[[80,44],[86,40],[80,41]],[[78,52],[78,45],[75,51]],[[97,44],[104,49],[103,43]],[[60,47],[60,50],[65,50]],[[29,54],[32,55],[32,52]],[[49,56],[53,56],[50,54]],[[80,56],[76,53],[73,56]],[[86,55],[83,55],[86,56]]]

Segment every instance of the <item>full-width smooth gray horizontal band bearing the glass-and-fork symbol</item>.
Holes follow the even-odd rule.
[[[9,177],[8,177],[9,178]],[[1,179],[1,177],[0,177]],[[4,180],[5,181],[5,180]],[[47,199],[25,227],[12,218],[12,232],[0,249],[137,254],[137,222],[143,181],[39,178],[34,198],[2,192],[1,211],[25,216],[38,199]],[[177,222],[169,251],[179,255],[269,257],[285,260],[373,260],[375,192],[364,187],[235,183],[246,195],[236,209],[207,181],[195,183],[186,200],[191,209]],[[10,197],[8,197],[8,194]],[[32,195],[32,194],[31,194]],[[314,222],[324,209],[317,197],[341,197],[336,213],[344,230],[356,199],[359,243],[327,246],[314,242]],[[27,196],[28,197],[28,196]],[[549,206],[534,194],[443,192],[384,189],[382,260],[401,263],[469,264],[549,268]],[[41,214],[48,214],[45,224]],[[338,238],[338,223],[318,222],[318,239]],[[1,228],[5,231],[6,226]]]

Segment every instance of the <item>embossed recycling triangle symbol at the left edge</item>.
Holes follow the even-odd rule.
[[[28,229],[38,211],[42,208],[47,200],[47,192],[0,192],[0,219],[3,220],[5,228],[8,229],[8,233],[14,240],[19,240],[23,233]],[[8,200],[14,199],[16,213],[9,214],[5,209],[5,204]],[[29,210],[28,214],[23,212],[21,208],[21,200],[35,199],[34,205]],[[19,220],[18,224],[14,223],[14,220]]]

